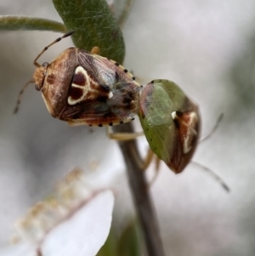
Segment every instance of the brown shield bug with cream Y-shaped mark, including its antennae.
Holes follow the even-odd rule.
[[[112,126],[130,122],[138,112],[141,85],[114,60],[79,48],[67,48],[52,62],[37,60],[54,43],[74,33],[70,31],[45,47],[34,60],[36,70],[21,94],[34,82],[49,113],[71,124]]]

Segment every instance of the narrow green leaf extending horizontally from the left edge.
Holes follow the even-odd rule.
[[[56,31],[65,32],[65,26],[54,20],[25,16],[1,16],[0,30],[2,31]]]

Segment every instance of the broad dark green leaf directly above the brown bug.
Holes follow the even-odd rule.
[[[105,0],[53,0],[77,48],[90,51],[94,46],[100,55],[122,63],[125,46],[122,31]]]

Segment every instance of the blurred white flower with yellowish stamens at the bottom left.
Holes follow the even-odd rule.
[[[110,232],[113,203],[112,191],[94,191],[74,169],[17,221],[16,244],[1,248],[0,256],[94,256]]]

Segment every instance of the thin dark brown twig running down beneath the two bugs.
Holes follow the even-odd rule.
[[[113,127],[113,130],[116,133],[133,133],[133,126],[132,123],[127,123]],[[147,254],[148,256],[164,256],[160,231],[150,200],[149,185],[146,182],[143,170],[140,168],[142,159],[139,156],[136,141],[128,140],[119,141],[118,143],[127,165],[129,186],[144,235]]]

